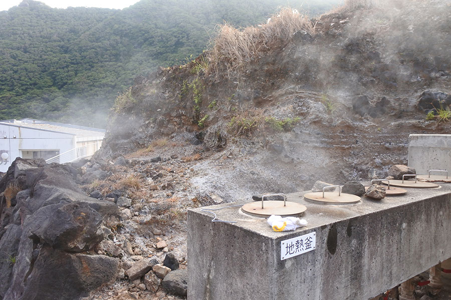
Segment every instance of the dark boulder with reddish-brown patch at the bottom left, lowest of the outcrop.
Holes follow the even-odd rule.
[[[119,266],[118,259],[105,255],[73,255],[50,246],[35,249],[30,258],[32,268],[30,261],[18,257],[15,268],[19,272],[15,272],[4,299],[87,297],[91,290],[114,280]]]

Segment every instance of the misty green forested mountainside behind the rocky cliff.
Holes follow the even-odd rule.
[[[310,15],[340,0],[290,1]],[[297,5],[299,3],[299,5]],[[0,12],[0,119],[104,126],[118,92],[158,65],[197,56],[214,26],[265,22],[284,0],[141,0],[122,10],[24,0]]]

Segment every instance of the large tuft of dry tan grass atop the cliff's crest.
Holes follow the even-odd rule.
[[[283,8],[271,16],[267,24],[237,29],[230,24],[219,25],[219,32],[209,52],[210,69],[225,63],[228,71],[237,71],[258,60],[260,52],[274,42],[289,41],[297,31],[315,33],[315,24],[296,9]]]

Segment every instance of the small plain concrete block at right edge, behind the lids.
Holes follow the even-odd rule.
[[[417,174],[445,169],[451,175],[451,134],[410,134],[408,164]]]

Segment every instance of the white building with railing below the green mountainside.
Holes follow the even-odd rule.
[[[24,118],[0,121],[0,172],[16,157],[70,162],[94,154],[105,129]]]

